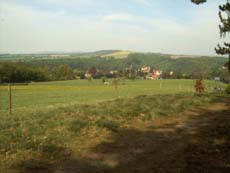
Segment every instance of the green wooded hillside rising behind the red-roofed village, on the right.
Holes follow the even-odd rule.
[[[227,62],[225,57],[208,57],[208,56],[179,56],[172,58],[171,55],[165,54],[131,54],[128,57],[130,63],[151,66],[163,71],[176,71],[180,73],[190,74],[193,72],[211,73],[218,71]],[[137,65],[138,66],[138,65]]]

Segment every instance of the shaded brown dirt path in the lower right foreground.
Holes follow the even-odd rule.
[[[55,173],[230,173],[230,107],[218,103],[113,132]]]

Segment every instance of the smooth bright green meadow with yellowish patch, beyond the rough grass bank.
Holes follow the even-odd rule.
[[[101,80],[73,80],[60,82],[31,83],[29,85],[12,86],[14,111],[44,109],[54,106],[72,104],[90,104],[120,98],[135,97],[142,94],[176,94],[193,93],[194,80],[126,80],[121,81],[118,92],[112,81],[103,85]],[[205,81],[207,92],[215,86],[224,84]],[[7,109],[7,86],[0,86],[0,111]]]

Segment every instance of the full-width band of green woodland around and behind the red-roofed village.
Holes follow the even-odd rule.
[[[1,55],[0,82],[84,79],[87,72],[92,73],[93,78],[114,78],[119,74],[135,79],[143,77],[140,68],[144,66],[162,70],[162,78],[212,79],[218,76],[225,81],[228,76],[224,57],[172,57],[159,53],[131,53],[126,58],[102,57],[99,53],[83,55],[62,58]],[[174,72],[172,76],[168,75],[170,71]]]

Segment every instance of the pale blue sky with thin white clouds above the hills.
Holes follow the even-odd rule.
[[[0,0],[0,53],[131,50],[215,55],[218,5],[209,0]]]

